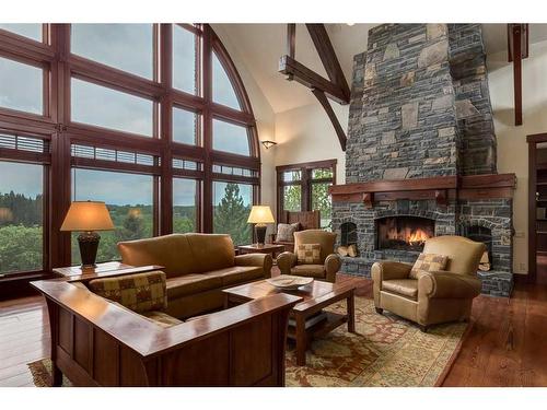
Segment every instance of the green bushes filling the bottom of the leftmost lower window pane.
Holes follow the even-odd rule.
[[[0,227],[0,273],[42,269],[42,226]]]

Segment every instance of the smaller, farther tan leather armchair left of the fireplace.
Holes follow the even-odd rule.
[[[307,230],[294,233],[294,254],[284,251],[277,257],[277,265],[282,274],[312,277],[327,282],[336,281],[336,272],[340,269],[341,260],[334,254],[336,234],[322,230]],[[321,256],[318,263],[299,263],[298,249],[301,244],[319,244]]]

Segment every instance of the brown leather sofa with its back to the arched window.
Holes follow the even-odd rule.
[[[164,267],[166,313],[178,319],[223,307],[222,289],[271,277],[271,255],[235,256],[230,235],[172,234],[120,242],[118,250],[124,263]]]

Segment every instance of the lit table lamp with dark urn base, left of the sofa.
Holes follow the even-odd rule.
[[[95,267],[101,235],[95,231],[112,231],[110,214],[104,202],[74,201],[65,216],[61,231],[81,232],[78,235],[82,268]]]

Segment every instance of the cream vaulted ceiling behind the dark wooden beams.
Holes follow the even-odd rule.
[[[326,24],[338,60],[351,84],[353,56],[366,49],[369,30],[376,24]],[[219,36],[236,48],[243,63],[254,77],[275,113],[317,104],[306,87],[290,82],[278,72],[279,58],[286,54],[287,24],[213,24]],[[547,39],[547,24],[531,24],[529,40]],[[507,50],[507,25],[484,24],[488,54]],[[327,74],[304,24],[296,25],[295,58],[323,77]]]

